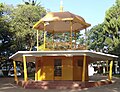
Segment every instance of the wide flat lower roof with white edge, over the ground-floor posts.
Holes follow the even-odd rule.
[[[27,57],[28,62],[34,62],[36,57],[42,56],[82,56],[86,54],[86,56],[91,57],[91,61],[106,61],[106,60],[114,60],[118,58],[118,56],[105,54],[101,52],[89,51],[89,50],[68,50],[68,51],[18,51],[12,56],[10,59],[15,61],[23,61],[23,56]]]

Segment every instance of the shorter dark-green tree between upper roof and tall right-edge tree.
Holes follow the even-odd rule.
[[[105,31],[103,30],[104,24],[94,26],[88,33],[88,48],[96,51],[104,51],[105,44]]]

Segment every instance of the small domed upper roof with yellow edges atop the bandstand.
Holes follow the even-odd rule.
[[[46,30],[50,33],[54,32],[69,32],[80,31],[90,26],[85,20],[78,15],[70,12],[49,12],[42,19],[40,19],[33,28],[38,30]],[[44,28],[45,26],[45,28]]]

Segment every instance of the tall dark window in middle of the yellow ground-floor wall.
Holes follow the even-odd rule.
[[[62,76],[62,60],[54,60],[54,76]]]

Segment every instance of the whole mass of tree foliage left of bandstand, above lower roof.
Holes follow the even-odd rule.
[[[32,50],[36,45],[36,31],[32,26],[46,14],[40,3],[0,4],[0,54],[12,55],[18,50]]]

